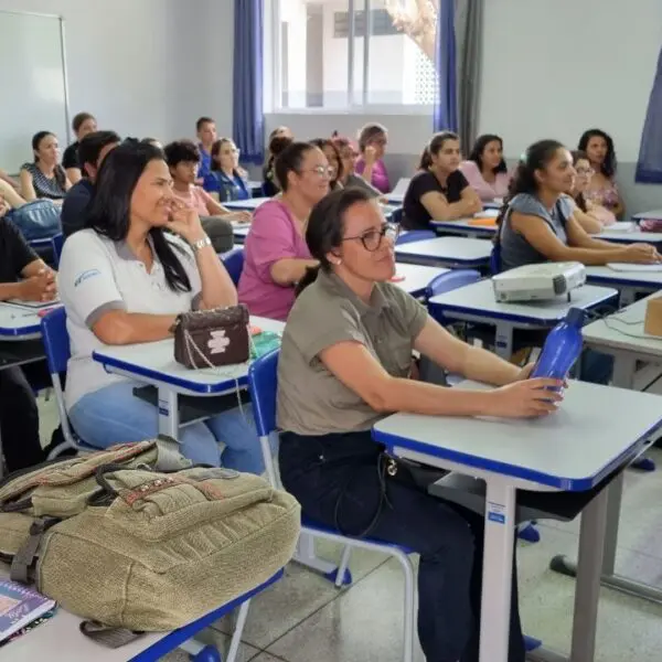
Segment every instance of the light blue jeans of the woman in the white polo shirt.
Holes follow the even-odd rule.
[[[134,382],[120,382],[82,397],[68,413],[81,439],[107,448],[157,437],[157,409],[134,395],[135,386]],[[238,408],[231,409],[181,428],[182,455],[196,465],[223,465],[237,471],[261,473],[265,467],[250,406],[244,410],[246,416]],[[223,453],[220,441],[225,444]]]

